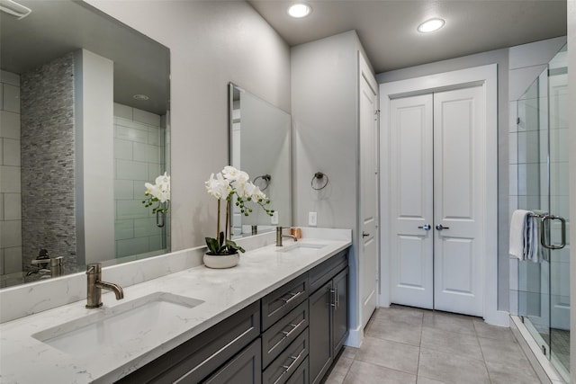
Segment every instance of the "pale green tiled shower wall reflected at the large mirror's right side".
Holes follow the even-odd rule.
[[[158,228],[152,208],[142,204],[144,183],[154,183],[166,171],[164,121],[157,114],[114,103],[116,257],[148,254],[169,244],[163,241],[169,233],[167,215],[166,226]]]

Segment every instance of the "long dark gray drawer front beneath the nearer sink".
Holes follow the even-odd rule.
[[[216,326],[119,380],[121,383],[199,382],[260,335],[260,306],[253,303]]]

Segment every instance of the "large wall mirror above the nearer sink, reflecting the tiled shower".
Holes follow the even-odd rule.
[[[84,2],[18,3],[0,12],[1,286],[166,253],[169,217],[142,200],[170,173],[169,49]]]

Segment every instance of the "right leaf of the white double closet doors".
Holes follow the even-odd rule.
[[[434,94],[434,308],[480,317],[482,100],[482,86]]]

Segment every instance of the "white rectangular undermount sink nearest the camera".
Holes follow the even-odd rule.
[[[40,342],[75,356],[89,356],[104,348],[127,344],[153,344],[182,324],[191,308],[203,301],[167,292],[154,292],[112,308],[53,326],[32,335]]]

